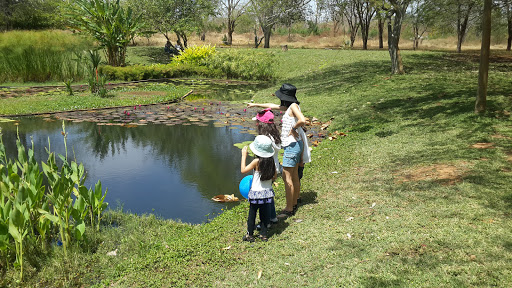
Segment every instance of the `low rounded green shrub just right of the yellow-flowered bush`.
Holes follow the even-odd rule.
[[[274,54],[227,49],[210,58],[208,67],[222,71],[227,78],[270,80],[274,76]]]

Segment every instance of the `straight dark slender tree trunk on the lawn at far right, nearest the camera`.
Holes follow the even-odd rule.
[[[480,50],[480,70],[478,72],[478,94],[475,113],[485,112],[487,102],[487,80],[489,76],[489,53],[491,47],[492,0],[485,0],[482,15],[482,49]]]

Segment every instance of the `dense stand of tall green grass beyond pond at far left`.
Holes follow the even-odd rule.
[[[92,41],[62,31],[0,34],[0,82],[79,80],[87,73],[84,50]]]

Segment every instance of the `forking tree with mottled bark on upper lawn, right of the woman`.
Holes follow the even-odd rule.
[[[407,11],[407,6],[411,0],[388,0],[387,20],[388,20],[388,51],[391,57],[391,73],[403,74],[404,67],[402,64],[402,56],[398,43],[400,42],[400,34],[402,32],[402,22]]]

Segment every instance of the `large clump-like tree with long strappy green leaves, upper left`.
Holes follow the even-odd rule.
[[[90,34],[105,50],[112,66],[124,66],[126,47],[142,27],[141,16],[116,1],[77,0],[70,6],[72,29]]]

